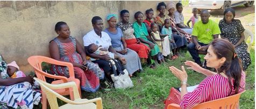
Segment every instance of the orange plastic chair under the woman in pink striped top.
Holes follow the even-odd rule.
[[[243,91],[245,92],[245,90]],[[202,108],[236,108],[237,105],[239,105],[239,98],[243,92],[240,92],[239,94],[232,95],[229,97],[221,98],[212,100],[209,102],[204,102],[201,104],[196,105],[193,107],[193,109],[202,109]],[[168,109],[180,109],[180,106],[178,104],[169,104]]]

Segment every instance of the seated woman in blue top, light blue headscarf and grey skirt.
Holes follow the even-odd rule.
[[[139,56],[135,51],[127,48],[122,30],[116,27],[117,15],[109,14],[106,20],[108,21],[109,27],[104,32],[109,34],[112,47],[116,50],[117,54],[125,58],[126,64],[123,66],[127,69],[131,77],[134,72],[142,70]]]

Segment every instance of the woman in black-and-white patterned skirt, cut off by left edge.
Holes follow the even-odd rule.
[[[0,55],[0,108],[33,108],[38,105],[41,94],[33,90],[30,76],[11,79],[7,74],[7,63]]]

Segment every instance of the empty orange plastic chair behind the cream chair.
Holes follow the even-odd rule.
[[[58,60],[44,57],[44,56],[31,56],[27,59],[27,61],[29,61],[29,64],[31,66],[33,66],[34,72],[37,75],[38,79],[40,79],[42,81],[46,82],[45,77],[49,77],[52,79],[58,79],[56,81],[53,81],[52,84],[60,84],[60,83],[67,83],[69,81],[74,81],[76,83],[76,86],[79,90],[79,94],[81,97],[80,80],[75,79],[74,67],[71,63],[58,61]],[[41,66],[42,62],[60,65],[60,66],[67,66],[68,71],[69,71],[69,77],[67,78],[65,76],[52,75],[52,74],[48,74],[48,73],[42,71],[42,66]],[[54,91],[60,95],[70,95],[70,99],[74,100],[74,93],[73,93],[72,88],[58,89],[58,90],[54,90]],[[43,91],[42,91],[42,108],[43,109],[47,108],[47,97]]]

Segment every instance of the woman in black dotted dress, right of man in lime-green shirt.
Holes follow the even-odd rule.
[[[229,8],[224,11],[224,18],[219,21],[219,29],[221,29],[221,37],[230,41],[236,50],[238,58],[241,59],[243,69],[246,71],[251,64],[250,53],[247,52],[247,44],[244,39],[244,27],[241,25],[241,21],[234,19],[235,12]]]

